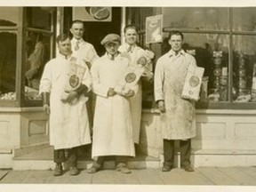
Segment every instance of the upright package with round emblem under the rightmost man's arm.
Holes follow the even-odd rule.
[[[188,100],[199,100],[203,76],[204,68],[189,65],[181,97]]]

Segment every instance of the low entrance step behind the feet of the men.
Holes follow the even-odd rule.
[[[78,152],[79,153],[79,152]],[[53,163],[53,148],[46,147],[40,148],[29,154],[15,156],[12,161],[13,170],[48,170],[54,169]],[[88,169],[92,167],[93,160],[90,158],[90,152],[84,153],[84,156],[80,156],[78,160],[78,168]],[[134,158],[129,158],[128,166],[132,169],[144,169],[144,168],[159,168],[160,159],[151,156],[139,155]],[[64,164],[67,167],[67,164]],[[115,161],[113,157],[108,157],[104,163],[104,169],[115,169]]]

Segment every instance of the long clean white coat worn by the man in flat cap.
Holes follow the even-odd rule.
[[[105,54],[92,65],[92,91],[97,95],[92,157],[135,156],[130,100],[117,94],[108,97],[108,89],[115,87],[128,64],[120,54],[115,60]]]

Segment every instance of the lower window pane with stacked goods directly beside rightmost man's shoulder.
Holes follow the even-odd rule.
[[[184,34],[183,49],[194,55],[204,68],[200,101],[228,100],[228,36],[220,34]]]

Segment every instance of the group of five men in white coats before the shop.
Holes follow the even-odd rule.
[[[70,32],[72,39],[65,34],[57,37],[60,54],[45,65],[39,89],[44,110],[50,114],[50,144],[54,147],[56,164],[54,175],[63,173],[62,163],[67,160],[67,150],[70,174],[77,175],[77,148],[91,142],[95,161],[87,169],[88,173],[100,171],[105,156],[116,157],[117,171],[130,173],[127,160],[135,156],[134,143],[138,144],[140,138],[141,82],[122,93],[116,92],[115,86],[125,70],[137,65],[141,56],[147,58],[147,53],[136,44],[138,34],[132,25],[124,28],[125,43],[122,45],[116,34],[108,34],[102,39],[100,44],[106,53],[100,58],[93,45],[83,39],[83,21],[74,20]],[[181,98],[181,91],[188,65],[196,65],[196,60],[182,50],[182,43],[183,35],[179,31],[172,32],[169,36],[172,49],[156,63],[155,98],[164,136],[163,172],[173,167],[174,140],[181,140],[181,168],[194,171],[190,166],[190,139],[196,136],[195,107],[193,100]],[[76,89],[65,90],[73,62],[83,68],[84,73],[78,80],[76,76],[68,79],[71,85],[79,82]],[[96,95],[92,140],[86,108],[91,91]]]

